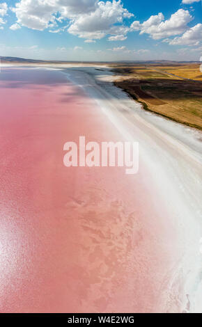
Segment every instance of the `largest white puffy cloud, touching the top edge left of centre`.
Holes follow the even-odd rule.
[[[87,40],[100,39],[107,34],[125,35],[129,29],[123,25],[123,20],[133,16],[121,0],[20,0],[12,10],[17,24],[29,29],[52,28],[54,31],[59,29],[59,23],[67,20],[68,32]]]

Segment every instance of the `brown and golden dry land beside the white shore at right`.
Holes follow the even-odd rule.
[[[158,115],[202,130],[202,73],[199,64],[111,65],[116,86]]]

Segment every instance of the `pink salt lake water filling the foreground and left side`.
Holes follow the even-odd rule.
[[[0,74],[0,311],[157,312],[169,253],[146,171],[66,168],[63,145],[123,141],[54,70]]]

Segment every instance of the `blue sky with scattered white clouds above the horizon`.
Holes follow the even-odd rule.
[[[201,23],[201,0],[3,0],[0,56],[199,61]]]

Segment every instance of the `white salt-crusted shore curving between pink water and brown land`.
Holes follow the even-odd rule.
[[[80,79],[81,79],[82,72],[79,71],[78,73],[81,74],[80,75]],[[88,74],[91,79],[94,78],[94,77],[92,77],[91,69],[90,69],[90,72],[83,72],[83,74]],[[86,81],[86,76],[83,77],[83,78]],[[173,152],[172,159],[169,159],[169,160],[172,160],[173,164],[174,164],[172,175],[175,176],[174,180],[176,180],[176,177],[180,177],[180,179],[178,180],[178,178],[177,178],[176,182],[174,182],[174,180],[173,180],[173,182],[174,182],[174,184],[173,184],[173,182],[171,182],[171,180],[173,179],[173,177],[171,177],[172,175],[170,175],[170,177],[166,177],[164,175],[165,172],[163,170],[164,170],[164,167],[168,168],[168,161],[167,161],[167,159],[162,160],[162,158],[160,159],[160,157],[159,157],[161,163],[160,163],[159,169],[157,169],[157,171],[158,171],[159,175],[162,174],[162,179],[160,177],[158,186],[157,186],[157,184],[158,184],[157,179],[155,179],[155,184],[156,184],[155,186],[157,186],[159,188],[159,192],[160,192],[161,195],[162,195],[162,192],[164,193],[164,196],[163,196],[164,200],[166,198],[168,198],[168,194],[166,194],[166,193],[168,192],[169,187],[171,187],[172,191],[169,191],[169,201],[171,201],[171,199],[173,199],[173,203],[175,203],[175,205],[178,207],[178,209],[177,209],[177,207],[174,208],[173,213],[170,212],[170,216],[174,217],[174,216],[176,216],[176,213],[178,212],[178,214],[177,214],[178,223],[177,222],[176,223],[177,223],[177,225],[182,224],[182,226],[183,226],[183,227],[181,226],[181,230],[178,231],[178,233],[180,235],[178,241],[181,244],[181,246],[183,244],[182,248],[184,248],[184,247],[186,248],[185,252],[182,251],[182,253],[183,252],[184,253],[181,254],[182,257],[184,257],[185,261],[182,260],[182,262],[179,263],[179,267],[176,268],[176,271],[173,271],[174,276],[176,275],[177,271],[178,271],[178,273],[177,273],[177,276],[174,278],[173,282],[171,282],[171,289],[172,289],[173,294],[175,294],[176,289],[173,289],[173,285],[176,282],[180,284],[181,291],[182,291],[182,289],[184,287],[184,292],[185,292],[184,295],[182,295],[183,292],[182,292],[182,294],[178,294],[179,298],[182,297],[182,298],[184,298],[184,301],[185,301],[185,303],[182,304],[182,311],[183,310],[186,311],[187,310],[186,308],[188,308],[189,305],[190,305],[190,312],[197,312],[198,310],[200,310],[199,307],[197,306],[197,303],[199,303],[199,304],[201,303],[201,301],[200,301],[201,296],[200,296],[200,292],[199,292],[198,295],[195,294],[195,291],[194,291],[193,287],[194,288],[196,287],[194,285],[195,285],[196,280],[197,280],[197,283],[199,283],[199,285],[196,288],[197,289],[201,288],[201,286],[200,286],[201,281],[198,280],[198,278],[196,277],[198,275],[198,272],[201,269],[201,255],[199,253],[199,248],[200,248],[200,239],[201,239],[201,233],[202,233],[202,226],[201,226],[201,220],[200,220],[201,217],[200,217],[200,214],[199,214],[199,210],[198,210],[198,214],[196,214],[196,208],[199,209],[201,207],[200,197],[198,198],[198,200],[196,200],[195,205],[193,205],[192,207],[187,206],[187,203],[189,203],[189,201],[191,201],[189,197],[191,197],[192,200],[194,200],[194,198],[191,196],[192,191],[194,191],[198,195],[201,193],[201,191],[197,191],[197,187],[196,187],[197,181],[200,180],[201,157],[200,157],[200,155],[198,157],[199,153],[196,154],[196,152],[194,150],[189,149],[187,147],[186,143],[182,144],[182,142],[179,141],[179,138],[175,139],[175,138],[173,138],[173,135],[172,136],[169,136],[168,134],[166,135],[165,134],[166,130],[163,129],[162,131],[160,131],[160,130],[157,131],[157,127],[155,125],[151,129],[150,122],[149,122],[149,125],[148,125],[148,123],[146,121],[142,121],[142,120],[139,120],[139,119],[137,120],[137,116],[135,117],[136,118],[135,119],[134,118],[135,113],[130,108],[129,102],[127,102],[130,99],[125,99],[126,103],[124,103],[123,101],[121,103],[121,105],[123,105],[124,107],[127,106],[128,111],[127,111],[127,109],[125,109],[125,111],[123,111],[123,108],[121,110],[117,109],[118,108],[117,99],[116,99],[116,102],[113,104],[114,106],[116,106],[116,109],[115,108],[110,109],[109,102],[107,102],[107,108],[106,108],[106,104],[104,102],[106,102],[106,100],[108,101],[111,98],[111,95],[110,95],[109,99],[107,99],[107,93],[106,92],[109,91],[109,90],[106,91],[106,86],[104,87],[104,84],[100,83],[99,79],[96,80],[96,78],[95,78],[95,85],[93,83],[91,83],[91,79],[88,80],[88,84],[91,84],[91,86],[96,88],[96,92],[98,91],[98,92],[102,93],[102,96],[99,98],[99,100],[97,99],[96,101],[98,102],[98,104],[100,105],[101,108],[104,107],[104,112],[107,114],[107,116],[111,120],[111,122],[114,122],[115,125],[119,124],[119,126],[121,126],[121,128],[123,128],[123,126],[127,125],[127,127],[130,128],[129,129],[130,132],[135,127],[135,129],[134,129],[134,131],[136,131],[135,138],[137,138],[137,132],[138,133],[140,132],[139,127],[137,127],[137,123],[141,122],[143,124],[142,125],[143,129],[146,129],[146,133],[148,133],[148,135],[151,133],[151,135],[155,136],[157,143],[162,143],[163,140],[167,140],[166,141],[166,146],[169,145],[167,150],[169,150],[169,152],[171,152],[171,153]],[[70,79],[70,80],[72,81],[72,79]],[[98,86],[98,80],[99,80],[99,86]],[[85,89],[85,85],[82,85],[81,87]],[[113,87],[116,88],[116,86],[113,86]],[[102,91],[100,90],[100,88],[102,89]],[[108,84],[107,84],[107,88],[109,88]],[[110,88],[110,90],[111,90],[111,88]],[[88,87],[86,88],[86,93],[88,93],[88,95],[90,95],[91,97],[94,97],[94,99],[96,99],[96,95],[93,95],[92,90],[89,93]],[[112,101],[112,98],[111,98],[111,100],[109,100],[109,101],[113,102],[114,99]],[[130,101],[133,101],[133,100],[130,100]],[[121,106],[121,105],[119,104],[119,106]],[[118,120],[117,120],[117,118],[118,118]],[[132,119],[133,118],[135,119],[134,121],[135,121],[136,126],[132,125]],[[160,118],[160,119],[164,120],[164,118]],[[128,120],[130,120],[130,122]],[[128,125],[128,123],[130,123],[130,125]],[[171,120],[169,120],[169,123],[172,124],[173,122],[171,122]],[[166,120],[164,120],[164,124],[166,125]],[[174,124],[176,126],[175,122],[174,122]],[[175,126],[173,126],[173,128]],[[180,125],[180,127],[182,127],[182,129],[185,128],[183,125]],[[185,131],[185,130],[183,130],[183,131]],[[153,134],[153,132],[154,132],[154,134]],[[158,134],[161,137],[161,141],[160,141],[159,136],[157,136]],[[198,131],[196,131],[196,134],[198,134]],[[141,132],[140,137],[144,138],[143,135],[144,135],[144,133],[142,134],[142,132]],[[166,136],[166,138],[165,138],[165,136]],[[127,138],[128,137],[130,137],[130,136],[128,135]],[[132,137],[133,137],[133,139],[135,139],[134,136],[132,136]],[[143,147],[147,147],[147,145],[144,142],[142,143],[141,138],[139,139],[139,141],[140,141],[140,144]],[[172,143],[173,143],[173,145],[172,145]],[[155,146],[155,143],[153,145]],[[199,142],[199,145],[201,145],[200,142]],[[162,145],[161,145],[161,147],[162,147]],[[185,151],[183,150],[183,147],[184,147]],[[144,161],[144,163],[146,163],[146,158],[148,157],[148,150],[146,150],[146,152],[144,151],[143,153],[144,153],[143,154],[143,156],[144,156],[143,161]],[[156,155],[155,152],[153,154]],[[188,157],[187,157],[187,155],[188,155]],[[192,155],[193,155],[193,157],[192,157]],[[149,154],[148,159],[150,160],[151,157],[152,157],[152,155]],[[192,159],[193,159],[193,161],[192,161]],[[199,161],[198,161],[198,159],[199,159]],[[179,166],[179,163],[180,163],[180,166]],[[149,166],[150,165],[151,165],[151,162],[149,163]],[[151,167],[149,167],[149,166],[148,166],[148,169],[150,170]],[[194,168],[194,166],[195,166],[195,168]],[[156,171],[155,167],[153,167],[153,168],[154,168],[154,170],[153,170],[152,175],[155,176],[157,171]],[[162,168],[163,168],[163,170],[162,170]],[[190,172],[192,171],[193,168],[194,168],[195,172],[192,172],[190,174]],[[161,172],[161,170],[162,170],[162,172]],[[186,173],[185,173],[185,171],[186,171]],[[152,172],[152,170],[150,170],[150,173],[151,172]],[[188,182],[189,177],[187,179],[187,176],[185,177],[186,174],[189,174],[189,177],[192,176],[191,180],[194,181],[192,184],[190,184]],[[165,180],[165,178],[166,178],[166,180]],[[170,178],[170,180],[169,180],[169,178]],[[186,180],[186,182],[184,180]],[[165,183],[163,187],[162,187],[162,181],[164,181],[164,183]],[[187,182],[188,182],[188,184],[187,184]],[[170,186],[169,186],[169,184],[170,184]],[[183,190],[182,193],[181,193],[181,191],[178,192],[178,187],[179,186],[180,186],[181,191]],[[198,184],[198,186],[199,186],[199,184]],[[165,192],[165,189],[166,189],[166,192]],[[190,189],[192,189],[191,192],[190,192]],[[200,190],[200,187],[199,187],[199,190]],[[164,205],[166,205],[166,208],[169,211],[169,207],[167,207],[166,202],[164,203]],[[184,209],[182,210],[183,207],[184,207]],[[185,209],[185,207],[186,207],[186,209]],[[194,223],[194,221],[195,221],[195,223]],[[176,227],[174,229],[176,229]],[[196,234],[198,234],[198,237],[196,237]],[[190,235],[192,235],[192,237],[190,237]],[[195,243],[195,246],[194,246],[195,250],[194,250],[194,248],[189,248],[189,246],[187,247],[187,245],[186,245],[189,242],[191,242],[191,244],[193,246],[193,241]],[[193,253],[193,250],[196,251],[196,252]],[[190,259],[191,257],[192,257],[192,260]],[[193,260],[193,258],[194,258],[194,260]],[[190,261],[190,264],[188,263],[189,261]],[[195,266],[195,269],[194,269],[194,266]],[[183,274],[182,274],[181,269],[183,269],[185,271]],[[192,273],[190,273],[190,271],[192,271]],[[181,278],[183,280],[183,283],[185,283],[184,285],[181,284]],[[187,282],[186,279],[188,280],[188,282]],[[185,295],[185,294],[189,294],[190,304],[187,303],[187,295]],[[199,302],[196,300],[197,296],[199,296],[199,300],[198,300]],[[182,301],[182,299],[180,301]]]

